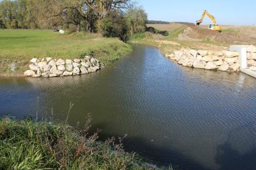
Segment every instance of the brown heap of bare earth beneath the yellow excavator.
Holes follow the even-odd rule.
[[[204,41],[210,39],[217,42],[232,42],[235,44],[255,44],[256,39],[247,35],[236,35],[229,32],[217,32],[214,30],[203,29],[198,25],[186,25],[184,32],[178,37],[182,41]]]

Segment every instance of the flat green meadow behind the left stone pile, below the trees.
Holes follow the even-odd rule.
[[[72,59],[90,55],[108,63],[131,50],[129,44],[117,38],[102,38],[94,33],[60,35],[52,30],[0,30],[0,73],[23,74],[31,58]]]

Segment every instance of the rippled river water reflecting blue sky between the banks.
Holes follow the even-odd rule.
[[[38,98],[38,103],[37,103]],[[256,81],[243,73],[181,67],[152,47],[97,73],[62,78],[1,78],[0,115],[38,110],[83,124],[101,137],[128,134],[128,151],[183,169],[254,169]],[[37,107],[38,105],[38,107]]]

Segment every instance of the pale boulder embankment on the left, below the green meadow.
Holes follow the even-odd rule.
[[[85,56],[82,59],[63,60],[53,58],[43,58],[30,60],[29,70],[24,72],[26,77],[63,77],[71,75],[81,75],[96,72],[102,69],[104,64],[99,60]]]

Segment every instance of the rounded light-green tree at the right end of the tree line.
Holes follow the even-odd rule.
[[[143,33],[145,31],[147,15],[143,9],[138,7],[130,9],[127,11],[125,17],[129,35]]]

